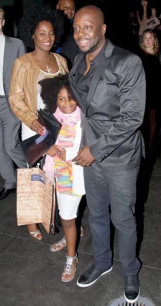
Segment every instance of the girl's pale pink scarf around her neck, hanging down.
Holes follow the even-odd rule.
[[[81,111],[79,107],[77,106],[74,112],[71,114],[64,114],[58,107],[56,109],[56,112],[54,114],[55,118],[61,122],[63,120],[64,123],[68,124],[71,129],[73,130],[74,122],[81,121]],[[55,142],[56,145],[58,145],[58,140]],[[45,171],[45,174],[49,181],[51,181],[54,185],[54,159],[53,157],[50,157],[49,155],[46,155],[45,159],[45,165],[43,167],[43,170]]]

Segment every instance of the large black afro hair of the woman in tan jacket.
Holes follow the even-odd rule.
[[[42,8],[40,5],[36,5],[25,11],[18,27],[20,39],[28,48],[34,50],[35,46],[32,36],[41,21],[51,22],[55,34],[54,47],[57,47],[64,33],[64,19],[61,12],[52,10],[48,6]]]

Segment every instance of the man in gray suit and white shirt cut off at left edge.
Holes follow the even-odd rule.
[[[23,42],[3,34],[5,12],[0,8],[0,173],[5,180],[4,188],[0,191],[0,200],[16,191],[14,162],[25,168],[25,156],[19,142],[20,120],[14,115],[8,104],[10,76],[12,66],[17,57],[26,53]]]

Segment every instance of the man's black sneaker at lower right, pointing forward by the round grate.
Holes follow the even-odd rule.
[[[124,296],[128,303],[137,301],[140,295],[140,286],[138,275],[125,276]]]

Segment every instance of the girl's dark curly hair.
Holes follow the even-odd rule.
[[[68,98],[76,101],[72,94],[68,75],[64,74],[59,77],[44,79],[39,82],[41,85],[41,98],[45,104],[45,109],[50,113],[55,113],[57,108],[57,96],[62,88],[67,91]]]

